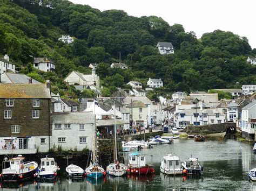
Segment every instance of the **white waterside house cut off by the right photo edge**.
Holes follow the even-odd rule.
[[[242,136],[254,140],[256,128],[256,100],[242,108],[241,131]]]

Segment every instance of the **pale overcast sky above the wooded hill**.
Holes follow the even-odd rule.
[[[170,25],[182,24],[186,32],[200,38],[205,32],[220,29],[247,37],[256,48],[255,0],[70,0],[100,11],[124,10],[130,16],[157,16]]]

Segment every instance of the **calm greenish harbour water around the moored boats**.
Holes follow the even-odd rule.
[[[59,173],[58,179],[53,183],[29,181],[22,185],[2,185],[2,190],[256,190],[256,183],[247,178],[248,170],[256,167],[256,155],[252,153],[252,147],[234,139],[206,140],[204,143],[194,142],[193,139],[177,139],[172,145],[157,145],[145,150],[146,153],[153,154],[156,169],[153,176],[106,176],[96,182],[87,179],[72,181]],[[160,161],[166,153],[176,153],[181,161],[191,154],[197,157],[200,165],[204,166],[203,176],[173,177],[161,174]],[[150,162],[150,158],[148,161]]]

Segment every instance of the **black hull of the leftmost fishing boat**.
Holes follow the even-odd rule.
[[[2,174],[2,181],[4,182],[18,182],[18,181],[24,181],[29,180],[34,177],[34,174],[36,173],[36,168],[32,171],[26,172],[26,173],[20,173],[20,174],[14,174],[14,173],[3,173]],[[22,178],[21,178],[22,177]]]

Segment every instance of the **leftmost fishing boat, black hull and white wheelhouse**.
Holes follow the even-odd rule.
[[[24,159],[25,157],[22,157],[21,154],[11,159],[5,157],[2,164],[3,170],[0,174],[2,181],[18,182],[33,178],[37,171],[38,164],[35,161],[24,162]],[[6,168],[7,164],[9,164],[9,168]]]

